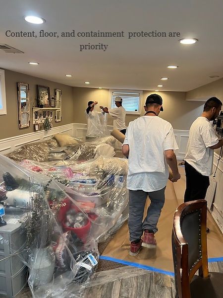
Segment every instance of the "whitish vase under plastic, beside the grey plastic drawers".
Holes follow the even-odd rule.
[[[55,253],[51,247],[35,248],[30,258],[29,283],[43,286],[53,279],[55,270]]]

